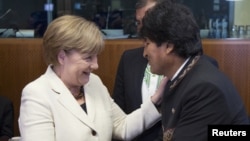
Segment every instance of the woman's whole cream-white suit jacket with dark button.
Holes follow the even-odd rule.
[[[94,74],[84,90],[87,114],[49,66],[22,91],[22,141],[110,141],[112,136],[130,140],[160,119],[151,100],[126,116]]]

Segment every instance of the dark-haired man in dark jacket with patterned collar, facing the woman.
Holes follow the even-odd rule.
[[[231,80],[204,57],[199,26],[186,6],[157,3],[142,24],[151,72],[170,80],[161,105],[164,141],[206,141],[208,125],[249,124]]]

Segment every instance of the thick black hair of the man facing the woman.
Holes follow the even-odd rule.
[[[142,20],[139,32],[157,46],[169,42],[180,57],[202,53],[200,29],[192,12],[184,5],[162,1],[148,10]]]

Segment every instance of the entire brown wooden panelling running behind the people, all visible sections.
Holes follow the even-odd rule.
[[[250,115],[250,40],[203,40],[204,53],[214,57],[220,69],[238,89]],[[112,92],[121,54],[142,46],[140,40],[106,40],[99,55],[98,74]],[[41,39],[0,39],[0,95],[10,98],[15,108],[15,135],[19,135],[18,116],[21,90],[46,70]],[[111,93],[112,94],[112,93]]]

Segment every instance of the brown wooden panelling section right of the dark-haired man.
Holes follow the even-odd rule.
[[[250,41],[207,39],[203,40],[203,49],[232,80],[250,115]]]

